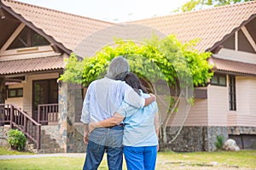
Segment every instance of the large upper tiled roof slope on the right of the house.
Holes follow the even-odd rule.
[[[201,42],[196,48],[207,50],[216,42],[226,39],[230,33],[253,17],[256,17],[256,1],[137,20],[132,23],[154,27],[166,35],[174,34],[182,42],[200,38]]]

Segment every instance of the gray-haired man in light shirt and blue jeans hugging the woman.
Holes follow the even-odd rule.
[[[101,127],[90,133],[90,122],[100,122],[113,116],[122,101],[136,108],[151,104],[155,100],[152,95],[148,99],[139,96],[128,84],[123,82],[129,72],[129,64],[122,56],[112,59],[107,75],[90,83],[87,89],[81,122],[84,123],[84,143],[87,145],[84,169],[96,170],[106,150],[108,169],[122,169],[122,139],[124,127]]]

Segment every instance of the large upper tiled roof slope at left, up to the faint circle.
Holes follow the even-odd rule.
[[[9,10],[14,10],[20,17],[31,22],[33,26],[44,31],[46,35],[53,37],[56,42],[62,43],[69,50],[76,48],[79,42],[92,32],[113,25],[102,20],[67,14],[27,3],[12,0],[1,1],[9,7]]]

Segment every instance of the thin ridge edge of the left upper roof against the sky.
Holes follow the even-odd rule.
[[[97,20],[97,19],[93,19],[93,18],[90,18],[90,17],[87,17],[87,16],[82,16],[82,15],[79,15],[79,14],[71,14],[71,13],[67,13],[67,12],[57,10],[57,9],[53,9],[53,8],[41,7],[41,6],[38,6],[38,5],[31,4],[31,3],[23,3],[23,2],[20,2],[20,1],[17,1],[17,0],[1,0],[1,1],[2,2],[4,2],[4,1],[5,2],[10,2],[10,3],[20,3],[20,4],[23,4],[23,5],[31,6],[33,8],[41,8],[41,9],[48,10],[48,11],[53,11],[53,12],[59,13],[59,14],[67,14],[67,15],[72,15],[72,16],[87,19],[87,20],[96,20],[98,22],[115,24],[113,22],[108,22],[108,21],[105,21],[105,20]]]

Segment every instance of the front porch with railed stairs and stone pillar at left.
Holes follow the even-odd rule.
[[[23,110],[32,106],[20,109],[7,99],[0,105],[0,127],[18,128],[40,153],[83,153],[82,96],[81,86],[59,82],[58,103],[37,105],[34,111]]]

